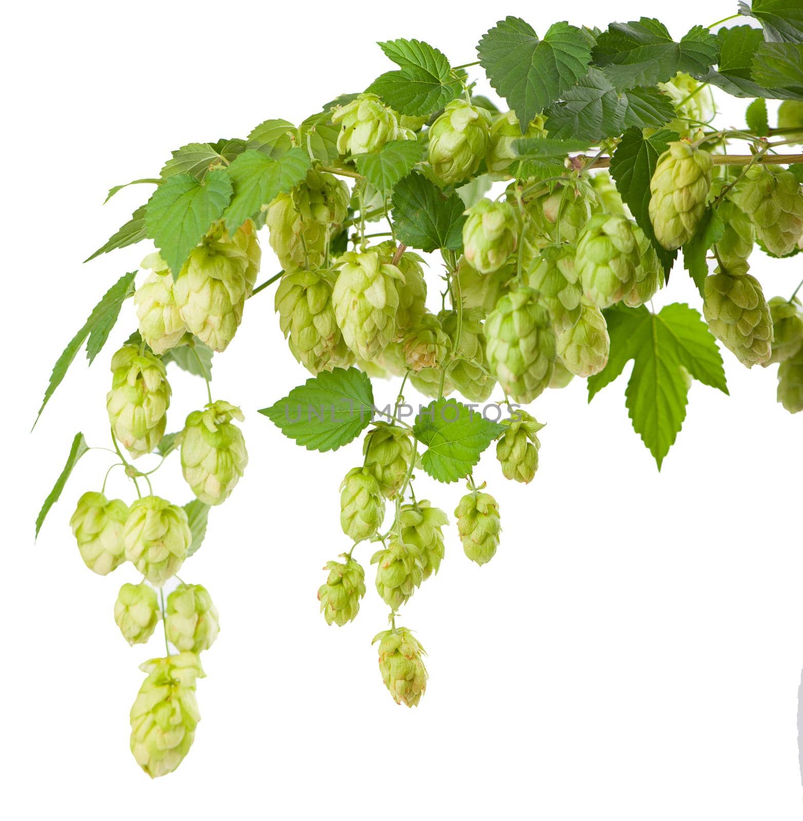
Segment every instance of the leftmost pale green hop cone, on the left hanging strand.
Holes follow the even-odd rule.
[[[128,505],[122,499],[109,500],[90,490],[78,500],[70,527],[84,564],[99,576],[126,561],[122,529],[127,517]]]

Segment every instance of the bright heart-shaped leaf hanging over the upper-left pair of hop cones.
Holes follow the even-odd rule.
[[[146,206],[145,227],[173,278],[231,199],[232,181],[223,168],[209,172],[203,182],[189,173],[176,174],[154,191]]]

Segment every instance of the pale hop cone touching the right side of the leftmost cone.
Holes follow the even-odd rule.
[[[132,505],[122,534],[126,559],[154,586],[175,576],[192,542],[183,507],[158,496],[144,496]]]

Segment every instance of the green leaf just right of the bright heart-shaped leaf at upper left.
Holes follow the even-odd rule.
[[[297,186],[310,170],[310,157],[304,149],[289,149],[278,159],[253,149],[241,154],[226,169],[234,195],[223,213],[226,227],[236,231],[262,205],[278,194]]]

